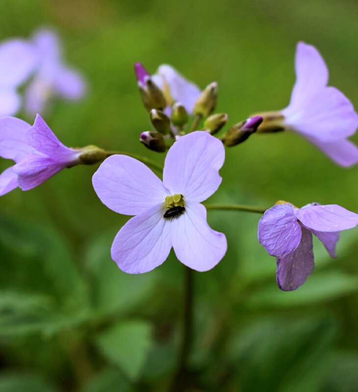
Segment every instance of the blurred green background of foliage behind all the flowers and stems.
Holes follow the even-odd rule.
[[[67,62],[86,76],[84,100],[56,102],[44,115],[69,146],[163,161],[139,143],[151,128],[136,61],[152,72],[172,64],[202,88],[217,81],[217,112],[233,124],[288,104],[302,40],[358,107],[356,0],[0,0],[0,9],[1,40],[52,26]],[[128,217],[99,201],[95,170],[63,170],[1,197],[0,392],[160,392],[175,374],[182,265],[171,254],[145,275],[117,268],[110,245]],[[212,202],[317,201],[358,212],[358,167],[334,165],[294,134],[255,135],[228,149],[221,174]],[[275,259],[257,242],[258,219],[208,214],[229,250],[214,270],[195,274],[196,381],[187,391],[358,391],[357,229],[342,232],[335,260],[314,243],[313,275],[284,293]]]

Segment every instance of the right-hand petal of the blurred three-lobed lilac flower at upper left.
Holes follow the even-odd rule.
[[[56,95],[67,99],[79,99],[86,91],[86,84],[81,74],[75,69],[65,67],[56,72],[53,87]]]

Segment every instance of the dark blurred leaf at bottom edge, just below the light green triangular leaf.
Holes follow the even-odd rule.
[[[81,392],[131,392],[133,388],[118,369],[105,369],[91,377]]]

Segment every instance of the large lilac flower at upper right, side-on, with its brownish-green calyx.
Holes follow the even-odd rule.
[[[296,83],[290,104],[279,112],[265,112],[260,132],[283,129],[299,133],[342,166],[358,162],[358,148],[347,138],[358,127],[358,115],[349,99],[328,87],[328,69],[311,45],[300,42],[296,49]]]

